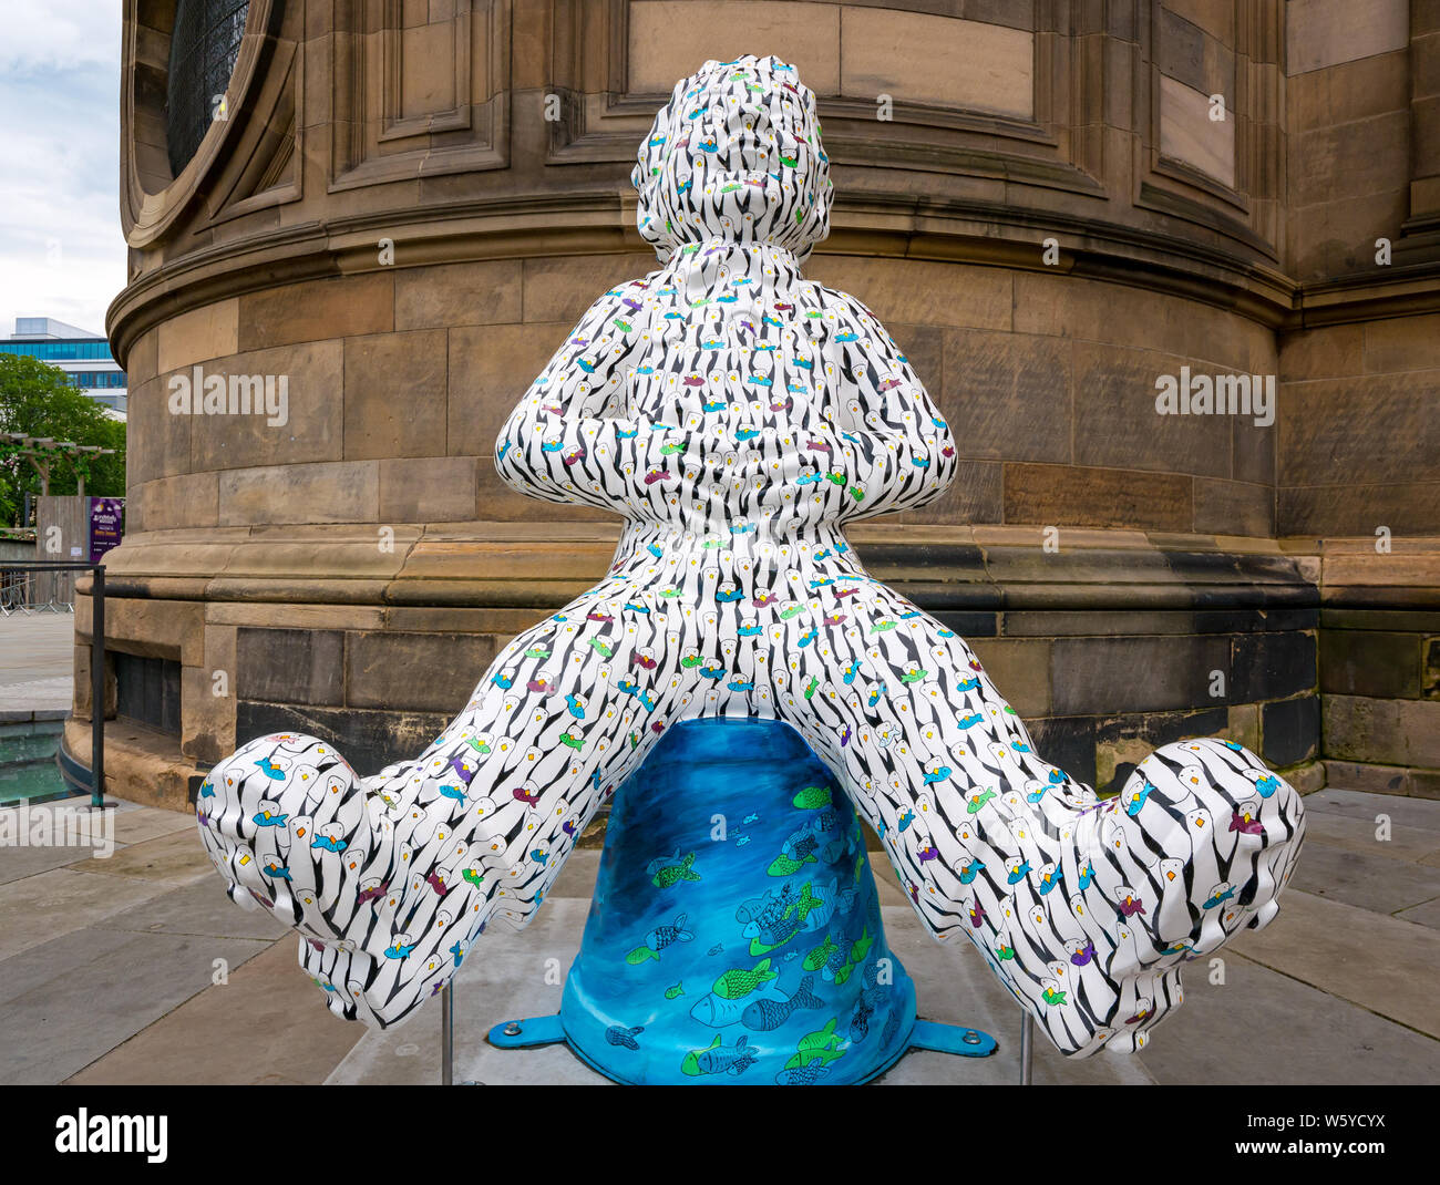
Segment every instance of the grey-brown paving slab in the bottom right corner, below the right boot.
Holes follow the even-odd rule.
[[[1283,910],[1282,910],[1283,916]],[[1272,929],[1279,922],[1272,923]],[[1260,940],[1266,934],[1260,934]],[[1139,1058],[1172,1086],[1440,1083],[1440,1041],[1221,950],[1182,972],[1185,1002],[1152,1029]]]

